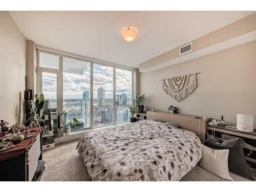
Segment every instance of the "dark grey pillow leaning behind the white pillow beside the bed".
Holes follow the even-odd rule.
[[[206,142],[206,145],[216,150],[229,150],[228,155],[228,168],[229,171],[242,176],[244,178],[254,180],[248,170],[245,158],[243,147],[240,143],[240,139],[229,139],[229,140],[220,140],[218,138],[211,138]]]

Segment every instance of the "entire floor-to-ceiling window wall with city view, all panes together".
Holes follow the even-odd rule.
[[[71,131],[130,121],[132,71],[45,51],[38,56],[37,93],[45,95],[45,113],[67,112]]]

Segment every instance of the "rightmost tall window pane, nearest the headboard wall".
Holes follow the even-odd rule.
[[[116,123],[130,121],[132,104],[132,72],[116,69]]]

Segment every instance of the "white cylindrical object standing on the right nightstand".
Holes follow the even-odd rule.
[[[237,130],[253,132],[253,115],[237,114]]]

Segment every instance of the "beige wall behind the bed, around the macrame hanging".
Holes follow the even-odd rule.
[[[140,94],[146,95],[146,110],[167,111],[177,106],[179,113],[202,115],[236,124],[236,114],[254,115],[256,128],[256,41],[186,61],[175,66],[140,73]],[[162,90],[159,79],[200,72],[197,88],[177,102]]]

